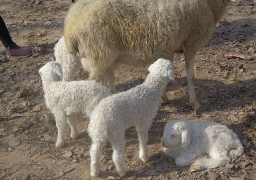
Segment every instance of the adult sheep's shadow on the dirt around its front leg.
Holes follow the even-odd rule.
[[[144,80],[133,79],[130,84],[116,85],[119,92],[131,89]],[[184,83],[185,82],[185,83]],[[197,99],[201,103],[202,110],[214,112],[216,110],[230,110],[235,107],[244,107],[256,101],[256,78],[236,81],[232,84],[225,84],[212,79],[196,79],[195,91]],[[192,108],[189,105],[186,78],[176,78],[174,82],[168,84],[167,93],[171,99],[169,105],[175,107],[176,111],[186,113]]]

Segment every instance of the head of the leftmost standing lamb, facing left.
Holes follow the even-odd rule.
[[[54,81],[62,81],[61,64],[56,61],[48,62],[43,67],[41,67],[38,73],[41,75],[41,78],[47,75],[50,76]]]

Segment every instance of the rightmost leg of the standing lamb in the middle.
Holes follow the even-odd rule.
[[[146,162],[149,159],[148,156],[148,150],[147,150],[147,143],[148,143],[148,130],[149,129],[144,129],[140,130],[140,128],[136,128],[136,131],[139,135],[139,141],[140,141],[140,151],[139,151],[139,158],[143,161]]]

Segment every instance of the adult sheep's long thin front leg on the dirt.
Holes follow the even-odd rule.
[[[184,51],[185,55],[185,64],[186,64],[186,74],[189,85],[189,103],[192,105],[193,110],[197,110],[200,107],[198,100],[195,97],[195,74],[194,74],[194,59],[195,53],[190,51]]]

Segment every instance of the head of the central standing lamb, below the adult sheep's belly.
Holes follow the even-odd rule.
[[[167,59],[158,59],[148,67],[149,73],[160,74],[164,78],[174,81],[172,61]]]

